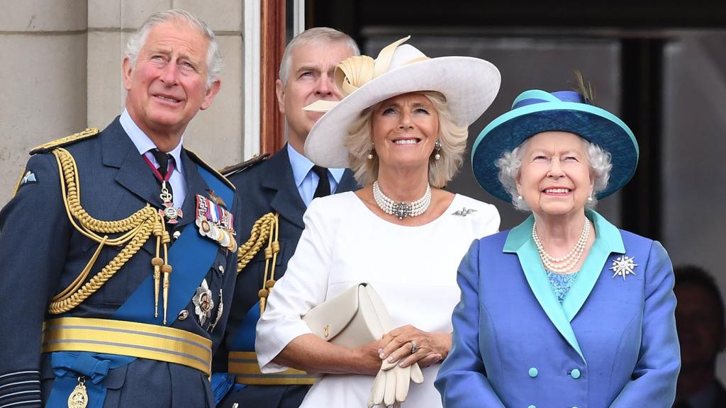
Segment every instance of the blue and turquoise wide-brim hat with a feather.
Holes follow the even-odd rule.
[[[522,142],[544,131],[566,131],[602,147],[611,155],[610,181],[597,198],[621,189],[635,174],[639,150],[630,128],[616,115],[590,105],[575,91],[524,91],[512,110],[494,119],[477,136],[471,152],[474,176],[481,187],[501,200],[512,202],[499,181],[496,162]]]

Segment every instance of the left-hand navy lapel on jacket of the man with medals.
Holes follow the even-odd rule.
[[[118,168],[116,181],[142,200],[160,208],[159,184],[129,135],[123,131],[118,118],[104,129],[102,137],[103,164]]]

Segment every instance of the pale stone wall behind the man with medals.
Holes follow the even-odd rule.
[[[153,12],[178,8],[216,33],[221,91],[184,134],[212,166],[242,160],[243,2],[240,0],[0,0],[0,206],[41,143],[105,127],[123,110],[126,39]]]

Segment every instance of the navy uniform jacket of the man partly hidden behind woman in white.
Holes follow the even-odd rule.
[[[279,280],[287,270],[287,261],[295,253],[305,227],[303,213],[307,209],[295,186],[287,145],[272,158],[230,176],[229,179],[237,187],[242,202],[240,215],[237,216],[240,221],[240,242],[248,240],[253,224],[261,216],[270,211],[280,214],[280,253],[275,266],[275,280]],[[335,192],[357,188],[353,173],[346,170]],[[250,330],[245,330],[244,333],[240,333],[240,330],[248,312],[258,308],[258,291],[264,279],[264,264],[264,250],[260,250],[237,277],[224,345],[214,357],[216,372],[227,372],[227,351],[254,351],[256,319],[249,322]],[[230,407],[237,403],[240,407],[299,407],[308,388],[308,385],[246,385],[227,396],[222,406]]]

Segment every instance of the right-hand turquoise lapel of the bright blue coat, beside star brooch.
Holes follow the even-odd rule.
[[[587,217],[595,225],[597,238],[592,244],[590,253],[587,254],[587,259],[577,274],[575,282],[562,302],[568,322],[572,322],[577,312],[582,309],[582,305],[592,292],[592,288],[595,287],[595,282],[600,274],[607,273],[604,271],[608,266],[605,262],[608,261],[610,254],[625,253],[623,237],[613,224],[595,211],[587,211]]]

